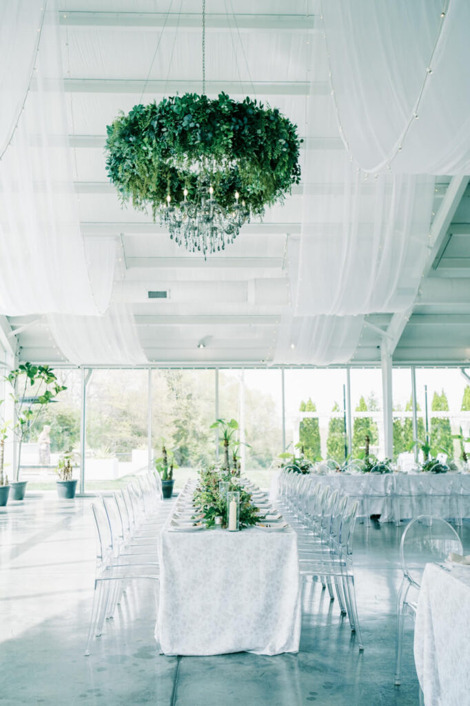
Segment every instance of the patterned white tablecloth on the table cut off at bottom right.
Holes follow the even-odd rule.
[[[414,660],[426,706],[470,704],[470,566],[448,573],[426,565]]]

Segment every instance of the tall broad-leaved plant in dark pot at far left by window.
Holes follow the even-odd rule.
[[[4,381],[10,383],[13,388],[10,397],[16,412],[16,421],[11,424],[11,430],[18,442],[16,468],[11,483],[12,497],[13,500],[23,500],[28,481],[20,481],[21,446],[28,433],[37,426],[49,402],[67,388],[59,385],[54,371],[48,365],[31,363],[21,363],[18,368],[4,377]],[[28,384],[33,388],[31,392],[34,393],[30,396],[26,395]],[[2,421],[3,424],[8,424],[4,419]]]

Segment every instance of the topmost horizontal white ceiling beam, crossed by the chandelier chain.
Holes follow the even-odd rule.
[[[153,30],[179,28],[182,30],[201,29],[200,13],[156,13],[156,12],[80,12],[64,11],[59,13],[59,22],[68,27],[122,27],[126,30]],[[236,23],[236,25],[235,25]],[[315,28],[315,16],[306,14],[275,15],[207,13],[206,30],[277,30],[292,32]]]

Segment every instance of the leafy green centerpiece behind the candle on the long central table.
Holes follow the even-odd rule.
[[[222,517],[222,527],[228,525],[227,493],[220,493],[219,482],[226,481],[229,486],[227,491],[240,493],[239,526],[251,527],[256,522],[264,519],[260,510],[253,505],[251,493],[234,481],[230,473],[220,474],[215,469],[203,469],[199,474],[199,482],[193,494],[194,504],[200,508],[205,517],[205,525],[214,527],[215,517]]]

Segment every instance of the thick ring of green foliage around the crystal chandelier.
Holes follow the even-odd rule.
[[[235,102],[185,93],[135,105],[107,126],[107,172],[123,203],[155,215],[167,195],[193,201],[212,185],[215,201],[231,210],[235,192],[252,215],[263,215],[299,184],[297,127],[277,108],[246,97]],[[203,172],[195,172],[195,164]],[[199,180],[199,181],[198,181]]]

